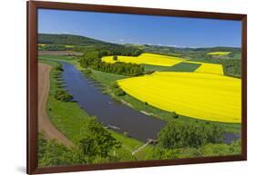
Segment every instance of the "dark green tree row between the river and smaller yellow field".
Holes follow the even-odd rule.
[[[90,51],[80,58],[82,67],[106,72],[117,73],[128,76],[138,76],[144,73],[144,67],[135,63],[104,63],[101,61],[101,54],[97,51]]]

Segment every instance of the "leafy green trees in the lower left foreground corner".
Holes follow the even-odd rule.
[[[117,161],[114,150],[121,142],[111,136],[95,117],[87,120],[81,129],[81,139],[77,146],[67,147],[56,140],[46,140],[43,132],[38,134],[39,166],[61,166]]]

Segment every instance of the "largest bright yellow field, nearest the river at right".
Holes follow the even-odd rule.
[[[241,79],[213,73],[153,73],[118,81],[139,101],[213,122],[241,123]]]

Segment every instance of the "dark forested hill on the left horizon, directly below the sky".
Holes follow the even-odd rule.
[[[117,45],[75,34],[38,34],[38,44]]]

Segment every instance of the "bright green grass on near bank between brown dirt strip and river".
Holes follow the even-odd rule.
[[[57,64],[42,60],[40,62],[50,64],[52,66],[56,66]],[[47,113],[56,128],[66,135],[70,141],[77,144],[78,141],[82,139],[82,136],[80,135],[80,128],[82,128],[85,122],[87,122],[89,116],[87,112],[77,104],[77,102],[61,102],[54,98],[53,92],[57,88],[56,83],[59,82],[54,78],[55,72],[56,70],[52,69],[50,73],[51,86],[47,100]],[[114,138],[122,142],[122,148],[115,151],[115,154],[122,157],[122,160],[144,160],[145,156],[148,154],[147,152],[152,150],[152,146],[148,145],[143,150],[138,151],[134,156],[132,156],[131,151],[138,149],[145,143],[129,138],[128,136],[116,131],[108,131],[111,132],[111,135]]]

